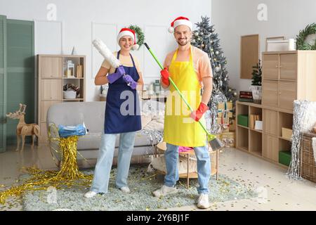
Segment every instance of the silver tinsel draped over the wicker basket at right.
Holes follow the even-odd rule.
[[[316,122],[316,102],[294,101],[293,133],[291,137],[291,164],[287,172],[289,179],[301,179],[301,138]]]

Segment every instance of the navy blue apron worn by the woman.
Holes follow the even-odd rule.
[[[120,51],[117,53],[118,60],[119,53]],[[131,54],[129,55],[131,56]],[[133,56],[131,56],[131,60],[133,62],[133,67],[123,67],[126,75],[130,75],[133,80],[137,82],[140,77],[136,70]],[[117,70],[115,70],[115,72],[117,72]],[[124,99],[121,99],[121,93],[123,91],[126,91],[127,94],[122,96]],[[133,105],[127,104],[127,102],[133,103]],[[124,103],[124,110],[131,113],[128,113],[127,115],[121,114],[120,109],[122,103]],[[131,110],[129,110],[129,107],[131,107]],[[123,77],[120,77],[114,83],[109,84],[104,123],[105,134],[121,134],[142,129],[137,91],[131,89],[131,87],[124,82]]]

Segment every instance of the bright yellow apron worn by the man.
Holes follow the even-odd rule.
[[[178,86],[193,110],[197,110],[201,103],[201,84],[193,66],[192,49],[190,61],[176,61],[178,49],[174,53],[169,73],[173,82]],[[205,124],[204,117],[200,120]],[[164,141],[174,146],[199,147],[206,145],[206,133],[198,122],[190,117],[190,110],[180,99],[176,89],[170,84],[170,93],[166,100],[164,117]]]

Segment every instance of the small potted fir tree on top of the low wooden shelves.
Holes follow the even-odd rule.
[[[261,104],[261,97],[262,97],[262,66],[261,60],[256,66],[252,67],[252,81],[251,81],[251,91],[252,97],[254,98],[254,103]]]

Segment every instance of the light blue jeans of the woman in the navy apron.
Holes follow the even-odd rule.
[[[122,133],[119,136],[117,178],[115,181],[115,186],[117,186],[117,188],[127,186],[127,176],[129,176],[129,165],[131,163],[135,135],[136,132],[129,132]],[[98,161],[94,170],[90,191],[94,191],[96,193],[107,193],[116,138],[117,134],[103,134],[102,136]]]

